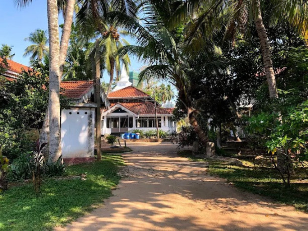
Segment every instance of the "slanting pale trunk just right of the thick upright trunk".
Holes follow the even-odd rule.
[[[76,0],[67,0],[64,14],[64,24],[60,43],[60,82],[63,74],[69,37],[72,29],[74,6]]]

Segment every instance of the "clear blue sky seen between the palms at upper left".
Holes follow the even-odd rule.
[[[36,29],[48,30],[47,4],[46,0],[33,0],[32,4],[21,9],[17,8],[14,2],[14,0],[0,1],[0,15],[3,19],[0,22],[0,45],[13,46],[13,53],[15,53],[13,60],[29,65],[30,57],[23,57],[23,55],[30,43],[24,41],[24,39]],[[61,23],[63,23],[63,19],[59,15],[59,24]],[[134,44],[131,39],[128,38],[127,40]],[[133,57],[131,62],[130,71],[138,71],[144,65]],[[104,72],[104,79],[105,81],[108,80],[106,72]]]

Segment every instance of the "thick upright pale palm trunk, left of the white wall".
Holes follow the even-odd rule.
[[[47,0],[49,34],[49,162],[61,156],[60,127],[60,46],[57,0]]]

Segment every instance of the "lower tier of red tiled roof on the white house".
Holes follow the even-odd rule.
[[[120,104],[127,108],[128,110],[134,112],[135,114],[140,115],[150,115],[155,114],[155,107],[154,104],[151,102],[118,102],[118,103],[111,103],[111,108],[116,104]],[[165,108],[157,107],[157,114],[171,114],[169,111],[165,110]]]

